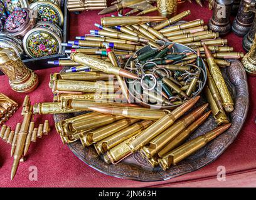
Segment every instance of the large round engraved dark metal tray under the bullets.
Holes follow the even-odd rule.
[[[139,153],[132,154],[118,164],[106,164],[98,156],[93,146],[84,149],[80,141],[68,145],[70,150],[85,164],[101,173],[136,181],[163,181],[203,168],[203,166],[215,161],[233,143],[240,129],[242,129],[247,116],[248,86],[245,69],[240,61],[230,61],[232,61],[231,66],[223,69],[222,73],[235,102],[235,109],[229,115],[232,126],[225,133],[206,144],[204,148],[201,148],[176,166],[172,166],[167,171],[163,171],[159,166],[153,169]],[[205,98],[201,96],[198,105],[204,102]],[[72,118],[77,114],[56,114],[54,119],[55,122],[58,122],[63,119]],[[211,131],[215,127],[215,119],[211,115],[195,133],[191,134],[188,140]]]

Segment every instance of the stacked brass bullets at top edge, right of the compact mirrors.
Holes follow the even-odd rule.
[[[107,8],[107,0],[68,0],[70,12],[93,11]]]

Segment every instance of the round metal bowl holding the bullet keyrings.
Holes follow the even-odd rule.
[[[161,42],[162,45],[163,45],[163,42]],[[165,42],[165,45],[169,45],[169,44],[174,44],[174,52],[177,52],[177,53],[183,53],[183,52],[193,52],[196,54],[196,52],[191,49],[190,47],[188,46],[185,46],[183,44],[179,44],[179,43],[176,43],[176,42]],[[147,51],[149,51],[151,49],[151,46],[145,46],[145,47],[142,47],[141,49],[139,49],[138,51],[136,51],[135,54],[137,54],[138,56],[143,54],[143,53],[146,53]],[[129,63],[134,60],[134,58],[132,58],[132,56],[127,60],[127,62],[125,63],[125,67],[127,67],[129,65]],[[205,78],[203,78],[203,76],[201,75],[200,76],[200,79],[203,79],[203,86],[202,88],[200,89],[200,91],[195,95],[195,96],[198,96],[200,95],[201,91],[203,90],[203,88],[205,87],[205,84],[206,84],[206,79],[207,79],[207,74],[206,74],[206,66],[205,66],[205,63],[203,62],[203,71],[205,73]],[[125,79],[126,83],[128,84],[128,81],[127,79]],[[129,88],[129,86],[128,86]],[[134,101],[136,103],[139,103],[141,104],[142,106],[144,107],[147,107],[147,108],[156,108],[156,109],[172,109],[172,108],[176,108],[177,106],[180,106],[181,104],[176,104],[176,105],[173,105],[173,106],[156,106],[154,104],[149,104],[149,103],[145,103],[143,101],[141,101],[141,99],[138,99],[136,96],[134,96],[134,93],[133,91],[130,90],[129,88],[129,95],[134,98]]]

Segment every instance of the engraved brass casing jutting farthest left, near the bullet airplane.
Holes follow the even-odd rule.
[[[78,113],[81,110],[63,108],[60,102],[38,103],[33,106],[34,114]]]

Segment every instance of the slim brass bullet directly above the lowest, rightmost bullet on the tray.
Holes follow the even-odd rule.
[[[210,114],[211,111],[204,113],[200,118],[196,119],[195,122],[190,124],[184,131],[179,133],[176,138],[166,144],[166,147],[159,151],[159,153],[157,153],[159,158],[163,158],[166,152],[172,151],[174,148],[178,148],[178,146],[181,145],[188,138],[188,136],[193,133],[193,131],[198,129],[198,127],[205,122]]]

